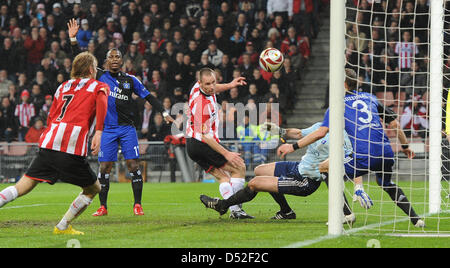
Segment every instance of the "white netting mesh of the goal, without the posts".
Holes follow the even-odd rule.
[[[392,172],[385,170],[364,176],[366,192],[374,207],[361,210],[353,203],[357,218],[366,229],[387,232],[449,232],[450,147],[445,135],[447,95],[450,88],[450,1],[445,1],[444,85],[442,120],[442,213],[429,214],[429,94],[430,94],[430,6],[427,0],[347,0],[346,68],[358,77],[358,89],[376,96],[387,109],[395,112],[398,126],[406,135],[415,157],[402,152],[402,131],[384,124],[394,152]],[[359,106],[355,106],[359,107]],[[359,108],[358,108],[359,109]],[[381,113],[385,118],[388,112]],[[450,121],[449,121],[450,122]],[[357,127],[364,128],[361,122]],[[375,127],[373,128],[375,131]],[[370,133],[370,132],[369,132]],[[449,132],[450,134],[450,125]],[[355,137],[354,137],[355,138]],[[356,172],[356,171],[355,171]],[[416,228],[387,191],[377,183],[377,174],[391,174],[414,211],[426,222]],[[384,176],[381,176],[384,178]],[[348,188],[348,187],[347,187]],[[353,189],[348,188],[353,195]]]

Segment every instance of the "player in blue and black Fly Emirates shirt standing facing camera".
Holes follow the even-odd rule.
[[[72,45],[72,54],[76,56],[79,53],[76,40],[79,26],[75,19],[72,19],[67,26]],[[97,72],[97,80],[109,86],[110,95],[108,97],[108,112],[105,118],[98,156],[100,162],[98,180],[102,186],[99,194],[101,207],[93,216],[108,214],[109,174],[111,173],[113,162],[117,161],[119,144],[132,178],[133,212],[135,215],[144,215],[141,205],[143,180],[142,173],[139,170],[139,144],[135,128],[136,122],[134,122],[136,115],[132,109],[132,106],[135,105],[132,94],[134,93],[148,101],[156,112],[164,111],[158,99],[153,97],[135,76],[121,71],[122,64],[122,53],[118,49],[113,48],[106,55],[107,70],[98,70]],[[163,116],[167,122],[173,122],[173,118],[167,113],[163,112]]]

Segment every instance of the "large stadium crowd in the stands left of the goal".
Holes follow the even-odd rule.
[[[186,102],[197,70],[210,67],[219,83],[237,76],[248,82],[218,96],[223,110],[228,103],[252,109],[279,103],[276,116],[283,122],[295,100],[294,83],[311,54],[310,41],[318,33],[319,10],[327,2],[1,0],[0,140],[37,142],[46,127],[53,93],[70,79],[66,23],[71,18],[81,26],[77,40],[82,50],[93,53],[101,67],[107,51],[118,48],[123,71],[138,77],[166,110]],[[284,53],[281,71],[259,68],[259,53],[266,47]],[[163,140],[170,127],[145,100],[136,97],[136,104],[130,109],[135,110],[140,138]],[[268,108],[259,114],[275,113],[270,105],[261,107]],[[221,122],[227,120],[235,118],[221,116]]]

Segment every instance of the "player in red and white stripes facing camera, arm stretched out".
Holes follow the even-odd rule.
[[[239,77],[229,84],[217,84],[214,70],[201,69],[199,80],[189,96],[190,115],[186,130],[186,148],[189,157],[220,183],[224,199],[244,188],[245,163],[239,153],[230,152],[220,145],[218,127],[219,110],[216,93],[245,85]],[[230,207],[231,218],[253,218],[236,205]]]

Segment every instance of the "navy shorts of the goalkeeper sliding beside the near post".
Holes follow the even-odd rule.
[[[278,193],[308,196],[320,186],[320,181],[303,177],[298,172],[300,162],[276,162],[274,176],[278,177]]]

